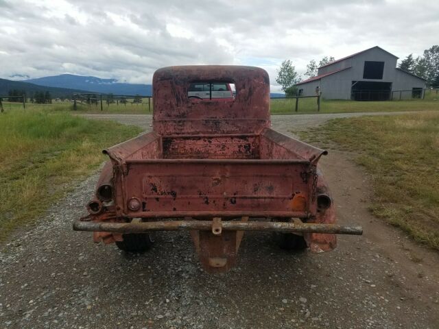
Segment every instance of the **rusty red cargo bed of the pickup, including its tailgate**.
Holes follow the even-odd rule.
[[[261,134],[143,134],[104,151],[122,168],[127,217],[309,217],[326,152],[271,129]],[[315,203],[314,203],[315,204]]]

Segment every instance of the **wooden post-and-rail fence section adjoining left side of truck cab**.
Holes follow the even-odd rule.
[[[130,101],[130,99],[132,99],[132,101]],[[143,103],[143,99],[147,99],[148,112],[151,112],[151,96],[75,93],[73,94],[73,110],[78,110],[78,101],[81,103],[85,101],[90,107],[100,103],[102,111],[104,110],[104,101],[107,106],[110,106],[110,103],[116,103],[117,106],[119,106],[119,103],[124,105],[126,105],[126,103],[141,104]]]

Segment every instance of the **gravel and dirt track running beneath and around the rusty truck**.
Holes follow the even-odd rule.
[[[272,121],[291,134],[335,115],[344,114]],[[150,117],[111,117],[149,129]],[[348,159],[330,150],[322,169],[340,223],[361,224],[364,236],[340,236],[327,254],[289,254],[270,234],[248,233],[238,266],[216,276],[185,232],[158,234],[134,256],[72,232],[95,174],[1,246],[0,328],[438,328],[438,254],[370,216],[368,178]]]

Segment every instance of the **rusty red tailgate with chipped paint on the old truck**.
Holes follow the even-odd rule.
[[[308,217],[315,167],[307,160],[127,160],[128,217]],[[314,171],[313,171],[314,169]],[[128,209],[130,199],[141,202]]]

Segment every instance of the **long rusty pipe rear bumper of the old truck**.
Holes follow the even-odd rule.
[[[148,221],[141,223],[114,223],[104,221],[73,221],[73,230],[112,232],[120,234],[150,231],[200,230],[213,234],[225,231],[268,231],[284,233],[363,234],[361,226],[326,223],[286,223],[273,221]]]

